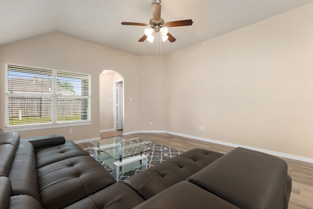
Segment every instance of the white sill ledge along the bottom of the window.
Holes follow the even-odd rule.
[[[82,125],[91,125],[92,121],[85,122],[68,122],[68,123],[59,123],[59,124],[44,124],[44,125],[32,125],[32,126],[17,126],[10,128],[2,128],[4,133],[7,132],[20,132],[20,131],[32,131],[32,130],[41,130],[41,129],[49,129],[49,128],[63,128],[63,127],[73,127],[73,126],[82,126]]]

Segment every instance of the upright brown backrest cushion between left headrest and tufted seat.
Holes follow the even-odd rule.
[[[8,175],[12,183],[12,195],[25,194],[40,201],[35,150],[28,141],[20,141]]]

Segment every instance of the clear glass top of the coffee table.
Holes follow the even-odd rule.
[[[115,160],[121,160],[151,150],[151,148],[146,145],[122,137],[99,139],[90,142]]]

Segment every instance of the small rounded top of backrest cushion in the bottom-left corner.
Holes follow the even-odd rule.
[[[35,198],[28,195],[15,195],[10,199],[9,209],[43,209]]]

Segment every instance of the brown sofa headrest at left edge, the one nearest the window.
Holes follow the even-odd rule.
[[[17,132],[0,134],[0,176],[8,176],[19,141]]]

